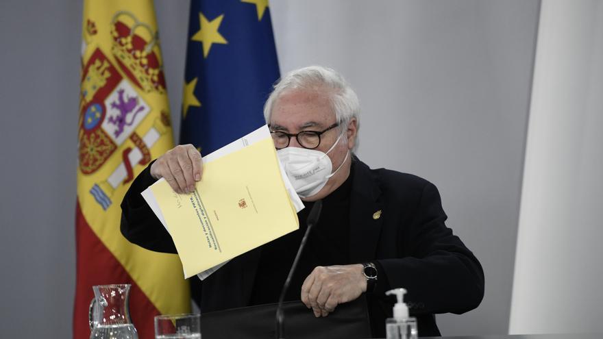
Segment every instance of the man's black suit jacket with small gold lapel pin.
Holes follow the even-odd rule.
[[[385,290],[403,287],[419,335],[439,336],[434,314],[460,314],[480,304],[480,263],[445,226],[447,216],[433,184],[415,175],[373,170],[357,158],[352,166],[349,258],[378,262],[382,268],[376,289],[367,295],[373,335],[384,337],[384,320],[391,316],[393,299],[384,296]],[[151,251],[176,253],[171,237],[140,197],[154,181],[149,168],[138,175],[121,204],[121,232]],[[234,258],[203,281],[202,312],[249,305],[261,250]]]

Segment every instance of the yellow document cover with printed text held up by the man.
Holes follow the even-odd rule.
[[[195,188],[151,186],[186,278],[299,228],[271,138],[207,162]]]

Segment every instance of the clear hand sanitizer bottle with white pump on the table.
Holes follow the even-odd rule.
[[[408,306],[404,303],[404,288],[394,288],[385,292],[394,294],[397,303],[393,307],[393,318],[385,321],[387,339],[417,339],[417,319],[408,316]]]

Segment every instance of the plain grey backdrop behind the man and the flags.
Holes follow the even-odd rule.
[[[188,1],[157,0],[180,126]],[[325,64],[362,105],[358,155],[434,182],[486,273],[443,334],[506,334],[539,1],[272,1],[282,71]],[[0,3],[0,331],[71,337],[82,3]]]

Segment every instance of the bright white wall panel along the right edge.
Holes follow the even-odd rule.
[[[510,333],[603,333],[603,2],[543,0]]]

